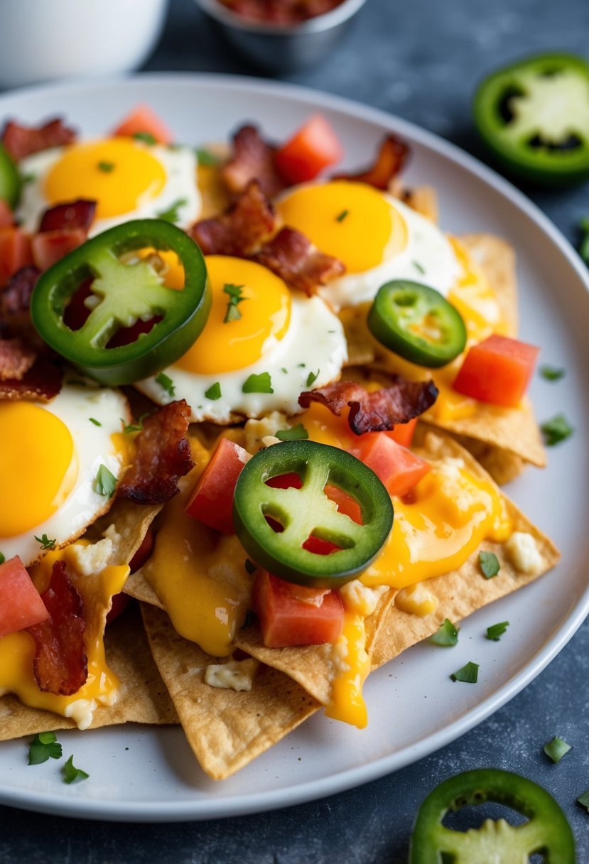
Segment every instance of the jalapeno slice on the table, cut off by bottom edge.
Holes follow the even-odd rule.
[[[493,801],[505,804],[529,822],[517,827],[486,820],[479,829],[454,831],[442,824],[448,810]],[[549,864],[574,864],[574,837],[561,808],[548,792],[518,774],[481,768],[436,786],[415,817],[409,864],[522,864],[535,852]]]

